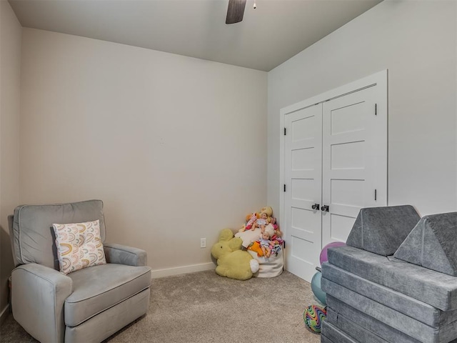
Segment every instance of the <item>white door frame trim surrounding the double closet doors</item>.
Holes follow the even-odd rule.
[[[281,110],[280,110],[280,126],[279,126],[279,130],[280,130],[280,139],[279,139],[279,163],[280,163],[280,169],[279,169],[279,192],[280,192],[280,201],[279,201],[279,219],[280,219],[280,223],[281,222],[285,222],[285,193],[283,192],[283,185],[285,184],[285,156],[284,156],[284,149],[285,149],[285,138],[284,138],[284,134],[283,134],[283,130],[284,130],[284,127],[285,127],[285,116],[286,114],[290,114],[291,112],[293,111],[298,111],[299,109],[303,109],[303,108],[306,108],[308,106],[314,106],[316,104],[319,104],[319,103],[322,103],[324,101],[328,101],[328,100],[331,100],[331,99],[335,99],[335,98],[338,98],[340,96],[344,96],[346,94],[350,94],[350,93],[353,93],[354,91],[359,91],[361,89],[365,89],[367,87],[370,87],[370,86],[379,86],[379,89],[381,92],[383,92],[382,94],[382,99],[386,99],[386,101],[383,101],[383,103],[381,104],[378,104],[377,106],[377,113],[379,116],[384,116],[386,119],[387,119],[387,115],[388,115],[388,108],[387,108],[387,95],[388,95],[388,89],[387,89],[387,84],[388,84],[388,70],[383,70],[383,71],[379,71],[378,73],[376,74],[372,74],[370,76],[366,76],[364,77],[363,79],[358,79],[357,81],[353,81],[349,84],[345,84],[343,86],[339,86],[338,88],[336,89],[332,89],[330,91],[326,91],[322,94],[318,94],[316,96],[312,96],[311,98],[309,99],[306,99],[306,100],[303,100],[303,101],[300,101],[296,104],[292,104],[290,106],[286,106],[286,107],[283,107]],[[387,132],[387,120],[384,121],[384,125],[386,126],[385,127],[385,132]],[[388,141],[387,141],[387,135],[385,137],[385,146],[386,146],[386,149],[383,149],[383,151],[379,152],[378,153],[378,157],[381,158],[381,159],[385,159],[387,161],[387,154],[388,154]],[[386,164],[386,168],[385,169],[382,169],[382,168],[378,168],[376,169],[376,172],[377,172],[377,177],[380,178],[380,179],[386,179],[386,189],[383,190],[383,192],[381,194],[385,194],[385,197],[386,197],[386,204],[388,204],[388,189],[387,189],[387,180],[388,180],[388,172],[387,172],[387,164]],[[288,232],[286,232],[287,228],[284,227],[283,228],[283,233],[284,233],[284,236],[287,236]],[[287,249],[287,243],[286,242],[286,249]],[[289,242],[290,243],[290,242]],[[286,260],[286,269],[287,269],[287,260]]]

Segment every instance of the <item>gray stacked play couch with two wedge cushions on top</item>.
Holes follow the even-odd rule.
[[[457,343],[457,212],[361,209],[328,249],[321,342]]]

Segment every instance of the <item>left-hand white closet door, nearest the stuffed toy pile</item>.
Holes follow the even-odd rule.
[[[316,273],[321,252],[322,106],[286,115],[286,269],[302,279]]]

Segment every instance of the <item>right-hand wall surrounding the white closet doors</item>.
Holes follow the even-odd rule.
[[[457,210],[456,1],[389,1],[268,73],[268,204],[279,204],[279,110],[388,69],[388,204]]]

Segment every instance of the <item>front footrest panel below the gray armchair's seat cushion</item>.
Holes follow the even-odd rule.
[[[77,327],[66,327],[65,343],[99,343],[148,312],[150,290],[124,300]]]

